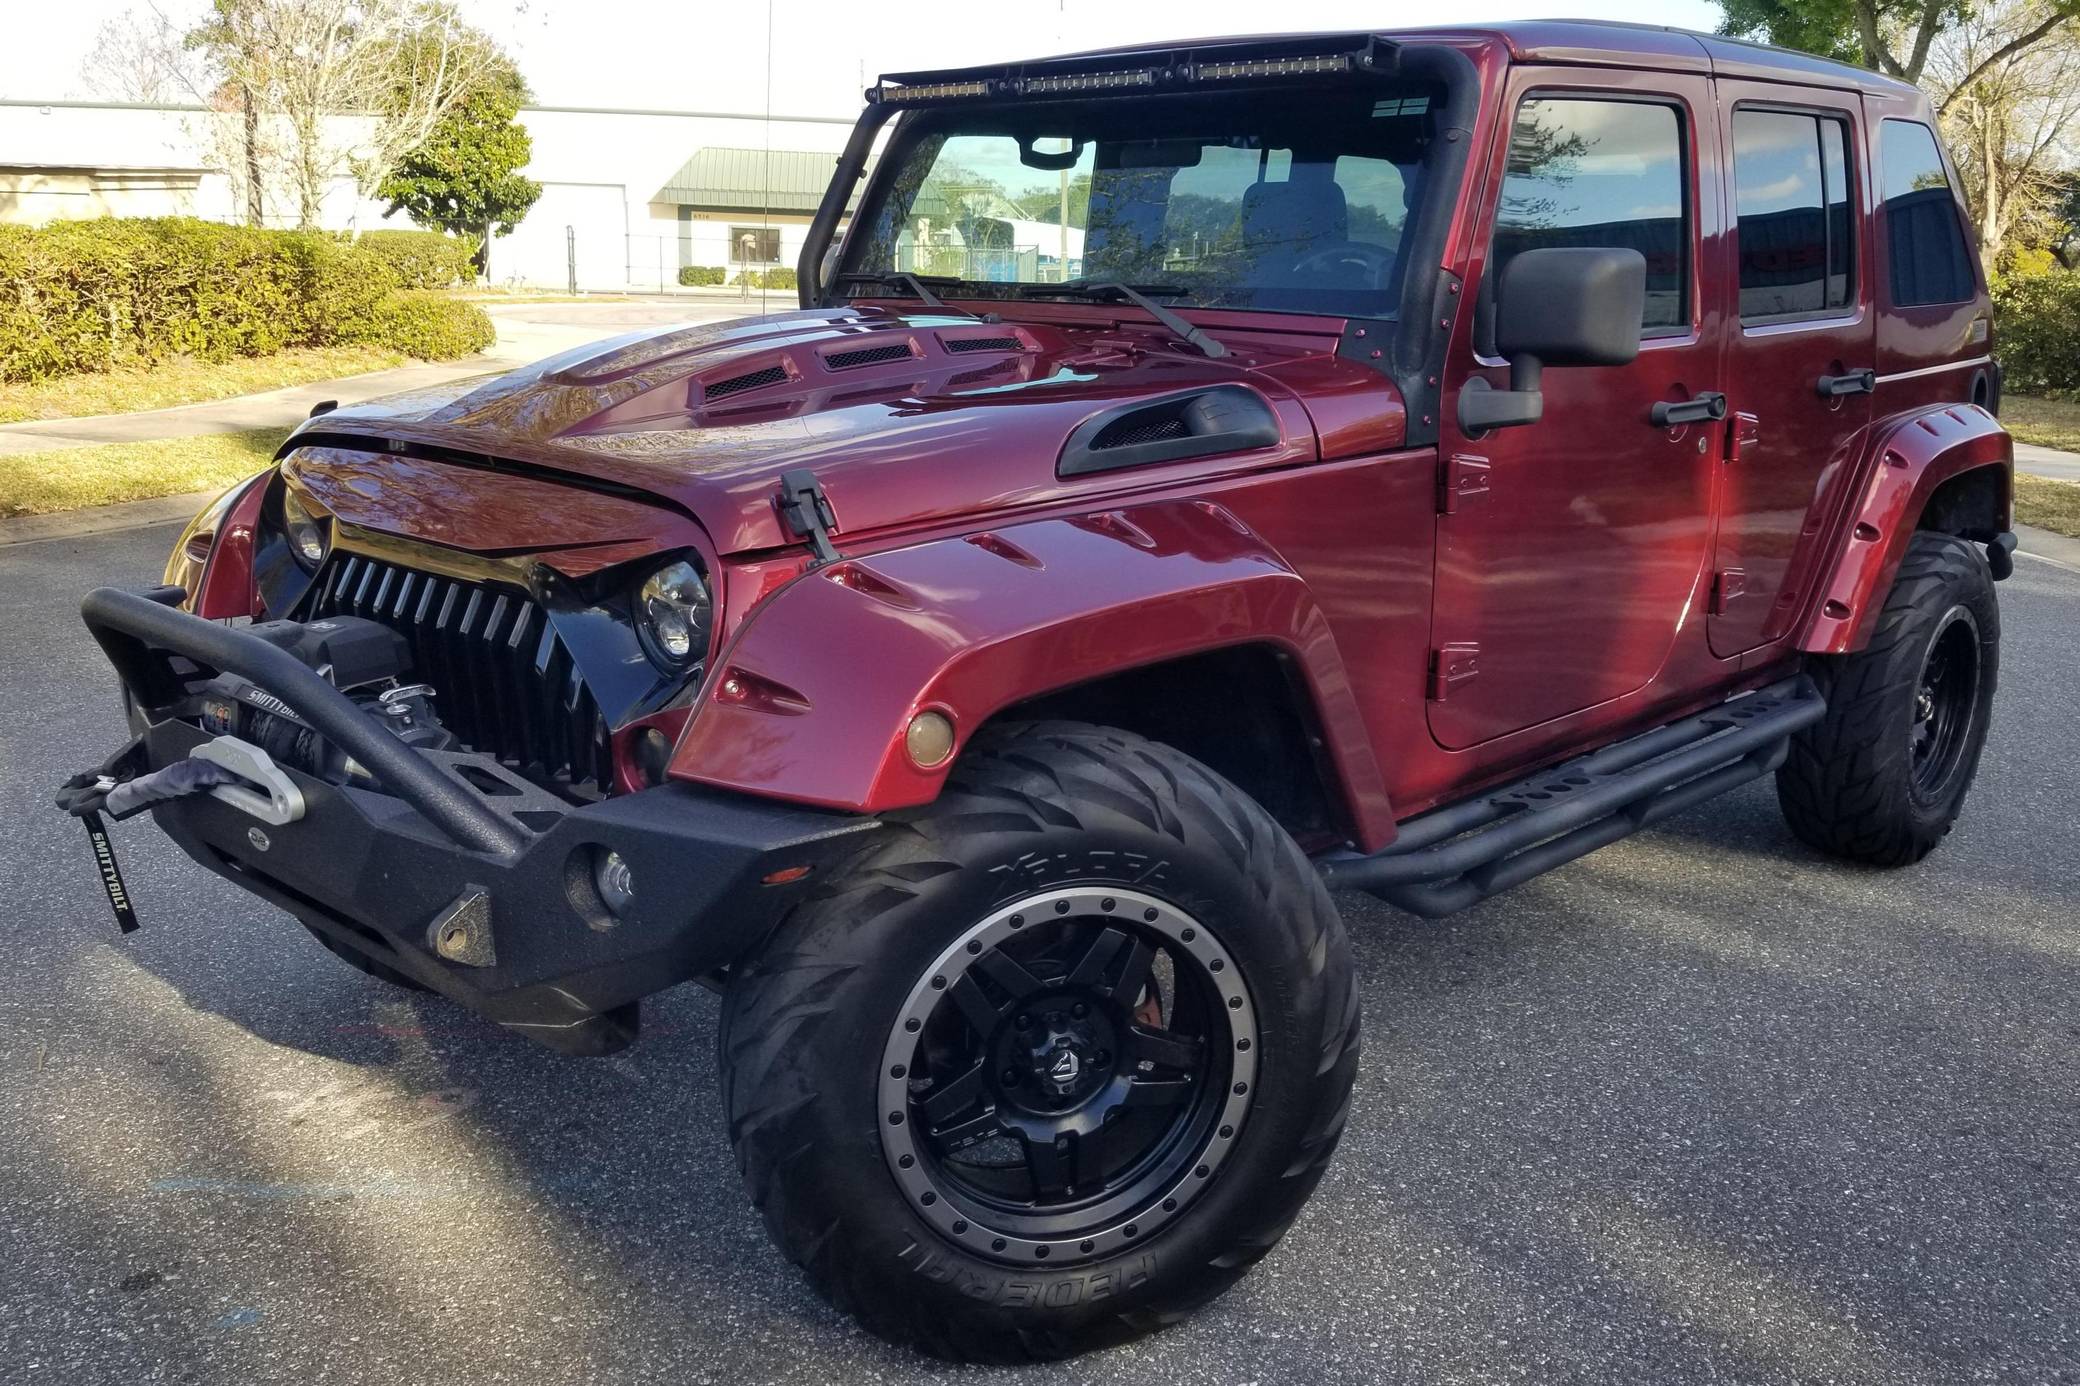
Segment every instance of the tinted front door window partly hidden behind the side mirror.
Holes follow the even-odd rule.
[[[1489,283],[1543,246],[1624,246],[1647,258],[1641,327],[1689,320],[1683,119],[1649,102],[1531,98],[1510,129]]]

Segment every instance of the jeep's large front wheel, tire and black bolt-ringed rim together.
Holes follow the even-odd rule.
[[[946,793],[730,982],[730,1134],[780,1249],[924,1351],[1063,1357],[1263,1257],[1344,1126],[1358,1007],[1292,839],[1082,724]]]

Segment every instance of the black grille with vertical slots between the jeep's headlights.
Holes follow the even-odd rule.
[[[339,554],[304,612],[324,616],[366,616],[404,635],[412,676],[435,689],[435,716],[472,751],[578,797],[614,789],[599,703],[547,612],[518,587]]]

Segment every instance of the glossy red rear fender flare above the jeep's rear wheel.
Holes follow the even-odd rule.
[[[1893,589],[1893,574],[1907,556],[1907,541],[1928,497],[1945,481],[1976,466],[1997,466],[2005,495],[2009,502],[2013,497],[2013,441],[1976,404],[1884,420],[1874,439],[1864,456],[1862,489],[1851,502],[1853,514],[1837,545],[1835,568],[1820,585],[1818,606],[1799,628],[1797,647],[1812,653],[1847,653],[1870,643],[1884,593]]]

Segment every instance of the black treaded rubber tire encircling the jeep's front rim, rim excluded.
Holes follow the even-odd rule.
[[[1254,1090],[1240,1122],[1206,1128],[1200,1153],[1186,1153],[1175,1192],[1190,1201],[1179,1201],[1175,1213],[1161,1213],[1156,1201],[1148,1205],[1150,1226],[1132,1244],[1117,1242],[1134,1236],[1132,1222],[1115,1220],[1115,1240],[1098,1232],[1082,1242],[1086,1255],[1073,1242],[1082,1232],[1067,1232],[1071,1240],[1057,1242],[1052,1259],[1034,1259],[1048,1251],[1025,1244],[1019,1263],[1015,1238],[992,1255],[980,1217],[973,1228],[948,1228],[948,1197],[934,1224],[934,1209],[921,1207],[934,1199],[915,1182],[899,1182],[903,1157],[890,1155],[884,1128],[901,1111],[886,1109],[901,1107],[915,1080],[896,1082],[890,1097],[888,1070],[901,1063],[890,1066],[888,1055],[903,1045],[901,1026],[911,1024],[903,1016],[915,1013],[905,1007],[938,1005],[926,991],[928,982],[944,982],[934,970],[953,972],[969,953],[984,953],[978,920],[1003,922],[1028,899],[1052,899],[1067,916],[1063,901],[1071,895],[1104,897],[1104,907],[1121,909],[1092,920],[1100,932],[1127,918],[1132,897],[1125,928],[1140,928],[1144,903],[1148,916],[1161,903],[1200,922],[1198,949],[1219,939],[1219,955],[1233,964],[1213,968],[1223,991],[1208,1011],[1219,1024],[1248,1018],[1256,1043],[1246,1057],[1254,1068],[1217,1074],[1219,1082],[1192,1101],[1233,1103],[1227,1078],[1242,1072],[1254,1074]],[[1073,916],[1055,920],[1055,909],[1036,914],[1059,930],[1077,924]],[[1023,943],[1038,943],[1036,932],[1028,930]],[[1194,966],[1184,957],[1173,970]],[[953,991],[967,980],[963,974]],[[1154,997],[1154,984],[1138,982],[1123,995],[1134,1007],[1134,997]],[[1005,1016],[1019,1005],[1009,1001]],[[1154,1001],[1140,1005],[1127,1016],[1146,1016]],[[1063,1013],[1067,1007],[1048,1020]],[[938,1011],[932,1016],[938,1024]],[[1125,1030],[1119,1045],[1127,1051]],[[1227,1043],[1200,1053],[1236,1047],[1250,1049]],[[921,1068],[924,1043],[917,1055]],[[1055,1359],[1161,1328],[1271,1251],[1344,1130],[1358,1066],[1358,997],[1327,891],[1252,799],[1165,745],[1077,722],[1040,722],[978,741],[938,801],[894,822],[782,922],[728,984],[722,1059],[730,1140],[751,1199],[774,1240],[826,1299],[872,1332],[938,1357]],[[1231,1053],[1227,1059],[1240,1063]],[[982,1068],[990,1068],[988,1057]],[[992,1080],[996,1072],[990,1068]],[[1132,1084],[1132,1074],[1117,1080]],[[1223,1109],[1213,1120],[1227,1118]],[[919,1143],[924,1126],[913,1115]],[[1221,1151],[1211,1178],[1208,1149]]]

